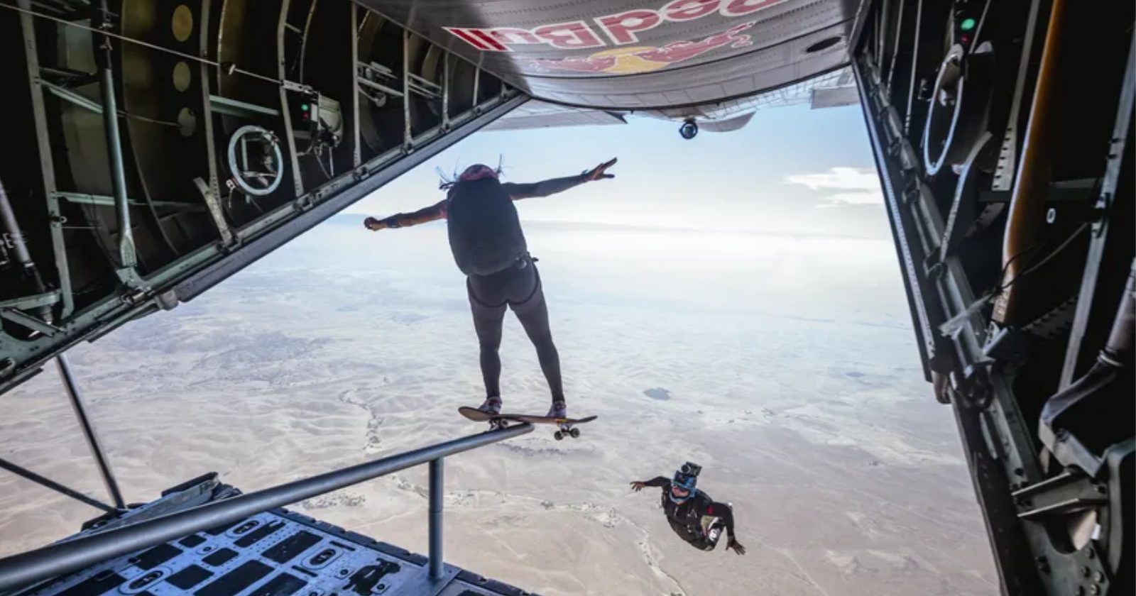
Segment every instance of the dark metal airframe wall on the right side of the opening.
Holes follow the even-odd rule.
[[[1127,35],[1119,37],[1124,54],[1102,57],[1102,47],[1121,43],[1078,44],[1103,35],[1093,25],[1109,18],[1085,8],[1067,0],[864,0],[851,43],[924,370],[954,412],[1006,595],[1131,587],[1131,529],[1118,522],[1130,526],[1131,420],[1109,421],[1111,445],[1093,435],[1109,417],[1130,418],[1117,400],[1131,401],[1131,329],[1122,327],[1131,326],[1133,303],[1131,280],[1127,289],[1124,282],[1134,257],[1126,143],[1136,39],[1112,7],[1110,25]],[[963,17],[974,20],[959,30]],[[1060,78],[1070,76],[1070,56],[1093,56],[1104,74],[1074,86]],[[951,68],[957,87],[942,84]],[[1108,151],[1091,143],[1111,112],[1094,114],[1080,129],[1052,117],[1056,101],[1089,94],[1116,109]],[[1077,114],[1086,109],[1076,104]],[[935,136],[932,119],[943,121],[942,112],[953,140]],[[1103,177],[1062,179],[1053,165]],[[1129,186],[1120,188],[1124,181]],[[1049,250],[1014,247],[1030,235],[1033,246]],[[1110,328],[1121,341],[1105,346]],[[1112,368],[1078,387],[1097,373],[1091,366]],[[1083,405],[1078,418],[1061,419],[1075,405]]]

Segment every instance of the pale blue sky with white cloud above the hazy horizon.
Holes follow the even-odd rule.
[[[692,141],[678,124],[643,117],[623,126],[485,132],[458,143],[348,209],[385,217],[432,204],[441,167],[495,166],[504,179],[567,176],[618,157],[616,178],[518,203],[524,220],[888,235],[858,106],[758,111],[733,133]],[[442,225],[440,223],[429,225]]]

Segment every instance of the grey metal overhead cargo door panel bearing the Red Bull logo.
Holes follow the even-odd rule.
[[[838,68],[855,3],[360,2],[537,99],[640,110],[722,101]]]

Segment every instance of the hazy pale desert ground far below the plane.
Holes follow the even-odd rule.
[[[925,383],[894,249],[838,236],[528,225],[578,439],[445,461],[448,562],[545,595],[993,595],[953,417]],[[479,433],[443,224],[341,216],[202,297],[70,351],[127,500],[208,471],[243,490]],[[511,316],[507,410],[548,391]],[[55,370],[0,396],[2,456],[105,490]],[[694,551],[658,489],[704,469],[737,556]],[[426,551],[426,470],[293,509]],[[98,512],[0,473],[0,555]]]

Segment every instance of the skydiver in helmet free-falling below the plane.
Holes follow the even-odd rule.
[[[662,511],[670,529],[700,551],[713,551],[721,531],[726,530],[726,549],[745,554],[745,547],[734,536],[734,510],[727,503],[715,503],[710,495],[694,487],[702,467],[686,462],[673,479],[662,476],[645,482],[632,482],[638,493],[645,486],[662,488]]]

